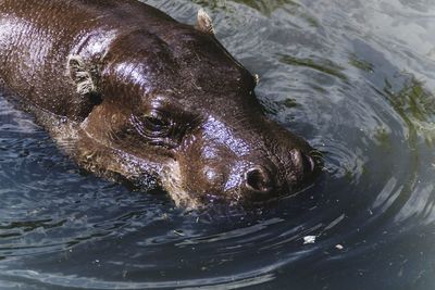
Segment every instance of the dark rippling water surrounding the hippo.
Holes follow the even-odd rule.
[[[308,201],[184,213],[80,172],[0,98],[0,289],[435,289],[433,1],[147,2],[204,7],[325,175]]]

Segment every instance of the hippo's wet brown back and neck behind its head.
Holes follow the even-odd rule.
[[[39,108],[83,119],[92,103],[67,76],[69,55],[98,63],[117,38],[138,29],[177,26],[135,0],[0,1],[0,78],[13,94]]]

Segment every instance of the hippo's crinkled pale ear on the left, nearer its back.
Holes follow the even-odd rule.
[[[97,92],[97,86],[92,79],[92,74],[83,61],[82,56],[76,54],[70,55],[66,67],[71,79],[77,86],[77,92],[79,94],[85,96]]]

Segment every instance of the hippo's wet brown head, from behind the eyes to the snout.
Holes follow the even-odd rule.
[[[187,207],[294,194],[319,172],[316,151],[264,115],[256,77],[202,17],[197,29],[138,29],[111,45],[102,101],[82,124],[94,151],[111,149],[94,154],[97,163],[135,182],[154,179]]]

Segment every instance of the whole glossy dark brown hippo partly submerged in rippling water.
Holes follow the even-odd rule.
[[[181,206],[295,194],[321,162],[197,25],[134,0],[1,0],[0,78],[80,166]]]

